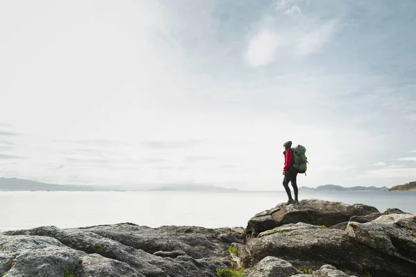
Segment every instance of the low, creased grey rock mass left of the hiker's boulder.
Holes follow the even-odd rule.
[[[244,239],[243,229],[135,224],[6,231],[0,235],[0,275],[62,277],[73,265],[78,277],[214,277],[216,268],[230,265],[229,245]]]

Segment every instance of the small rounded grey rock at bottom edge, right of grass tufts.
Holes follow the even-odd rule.
[[[245,274],[250,277],[286,277],[299,273],[290,262],[270,256],[263,258],[253,268],[245,270]]]

